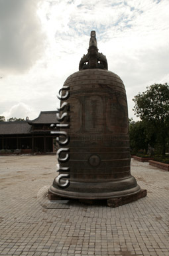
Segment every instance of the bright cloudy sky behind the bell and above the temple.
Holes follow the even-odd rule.
[[[0,0],[0,115],[34,119],[56,110],[56,94],[95,30],[136,119],[132,98],[169,83],[168,10],[168,0]]]

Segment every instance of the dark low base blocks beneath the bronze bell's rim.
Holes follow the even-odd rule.
[[[134,195],[125,195],[123,197],[115,197],[115,198],[109,198],[107,199],[107,206],[109,207],[119,207],[121,205],[124,205],[126,203],[131,203],[132,201],[137,201],[138,199],[141,199],[142,197],[146,196],[146,190],[140,190],[138,193],[135,193]],[[48,191],[48,198],[50,199],[50,201],[58,201],[58,200],[71,200],[70,198],[66,198],[66,197],[60,197],[58,195],[54,195],[53,193],[51,193],[50,191]],[[106,202],[106,200],[99,200],[99,199],[78,199],[78,201],[80,201],[81,203],[87,203],[89,205],[93,205],[93,204],[100,204],[101,202],[103,203],[103,201]],[[101,204],[102,204],[101,203]],[[105,203],[103,203],[105,204]]]

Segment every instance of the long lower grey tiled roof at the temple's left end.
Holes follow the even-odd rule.
[[[31,126],[25,122],[0,122],[0,134],[29,134]]]

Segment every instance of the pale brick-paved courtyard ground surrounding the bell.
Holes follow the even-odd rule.
[[[56,156],[1,156],[0,166],[1,256],[169,255],[169,172],[132,160],[147,197],[115,209],[46,209],[36,195],[52,184]]]

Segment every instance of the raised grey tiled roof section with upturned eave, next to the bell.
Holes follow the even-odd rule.
[[[56,113],[58,111],[41,111],[38,118],[28,120],[28,124],[56,124]]]

